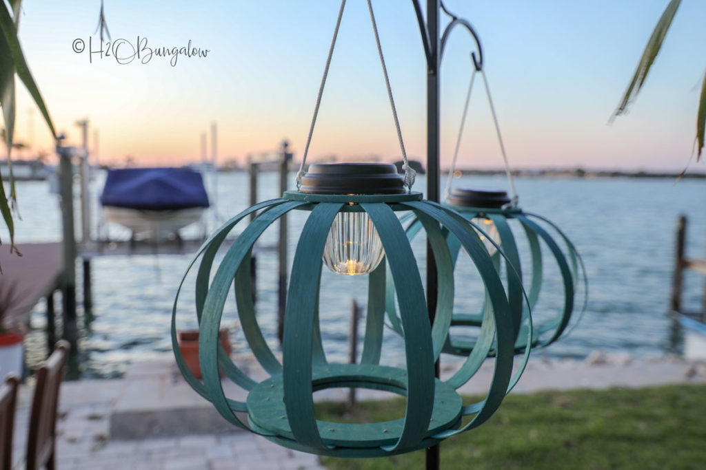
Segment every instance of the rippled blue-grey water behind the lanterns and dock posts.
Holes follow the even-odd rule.
[[[96,178],[94,194],[102,188],[103,178],[104,175]],[[247,175],[224,173],[216,178],[219,194],[215,213],[220,220],[225,220],[248,206]],[[275,174],[261,175],[258,199],[277,197],[276,182]],[[679,214],[688,216],[687,253],[702,256],[706,247],[706,182],[521,178],[515,184],[520,194],[520,206],[525,211],[550,218],[573,240],[583,256],[590,280],[587,311],[578,327],[568,338],[537,355],[582,358],[594,350],[607,350],[645,357],[673,352],[678,345],[675,346],[670,339],[671,320],[666,311],[674,264],[676,219]],[[455,185],[506,187],[503,178],[480,177],[464,177],[455,180]],[[212,181],[209,186],[213,190]],[[424,189],[424,178],[419,178],[415,189]],[[58,197],[49,193],[48,183],[18,183],[18,194],[23,218],[17,223],[18,241],[60,240]],[[94,220],[97,220],[100,214],[97,204],[95,206]],[[292,233],[301,227],[303,215],[290,218]],[[209,218],[211,216],[213,214]],[[263,235],[265,244],[274,242],[275,230]],[[110,234],[127,236],[124,230],[114,227],[110,228]],[[5,233],[0,235],[6,236]],[[296,241],[294,236],[289,237],[290,256],[294,253]],[[415,246],[419,247],[419,242]],[[423,249],[418,251],[424,252]],[[422,263],[423,258],[420,255],[418,261]],[[80,354],[73,364],[76,376],[117,377],[124,373],[131,361],[171,356],[169,322],[172,303],[190,259],[190,256],[171,255],[93,259],[93,309],[90,316],[84,316],[80,305],[81,271],[80,263],[77,264]],[[275,350],[276,261],[273,253],[263,253],[258,258],[258,321]],[[561,292],[551,292],[558,290],[555,271],[548,268],[542,293],[542,302],[547,307],[561,302]],[[324,276],[326,287],[321,294],[321,328],[325,348],[331,359],[345,361],[349,302],[355,297],[364,304],[366,281],[327,272]],[[179,307],[180,328],[196,326],[192,313],[193,284],[188,286]],[[686,276],[683,303],[687,309],[699,308],[701,288],[699,276]],[[473,287],[458,288],[457,305],[474,304],[478,292]],[[45,357],[45,325],[44,305],[39,304],[32,311],[31,330],[25,342],[30,369]],[[247,354],[232,306],[227,307],[225,325],[233,331],[235,352]],[[362,328],[364,325],[361,324],[361,333]],[[401,343],[394,335],[386,333],[385,342],[385,347],[399,350]],[[403,361],[400,353],[393,353],[386,359],[393,363]]]

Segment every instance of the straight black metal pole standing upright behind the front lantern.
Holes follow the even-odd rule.
[[[440,0],[426,0],[426,36],[429,40],[429,55],[426,70],[426,199],[439,202],[439,8]],[[429,322],[436,315],[436,263],[429,242],[426,243],[426,308]],[[439,376],[436,362],[435,375]],[[438,470],[439,445],[426,450],[426,470]]]

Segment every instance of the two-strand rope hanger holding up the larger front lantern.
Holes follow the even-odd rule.
[[[311,136],[313,135],[313,128],[316,125],[316,117],[318,116],[318,109],[321,106],[321,97],[323,96],[323,88],[326,84],[326,78],[328,77],[328,69],[331,65],[331,58],[333,57],[333,49],[336,45],[336,39],[338,37],[338,30],[341,25],[341,18],[343,17],[343,11],[345,9],[346,0],[341,1],[341,6],[338,11],[338,18],[336,20],[336,26],[333,30],[333,38],[331,39],[331,45],[328,49],[328,57],[326,58],[326,65],[323,69],[323,77],[321,78],[321,85],[318,89],[318,95],[316,97],[316,105],[314,106],[313,118],[311,118],[311,126],[309,127],[309,136],[306,138],[306,145],[304,146],[304,156],[301,157],[301,165],[299,166],[299,171],[297,172],[297,190],[301,187],[301,178],[304,176],[304,166],[306,165],[306,156],[309,154],[309,144],[311,144]],[[397,140],[400,142],[400,150],[402,151],[402,169],[405,171],[405,186],[407,186],[407,192],[412,191],[412,185],[414,185],[414,179],[416,178],[417,172],[414,171],[409,166],[409,161],[407,161],[407,151],[405,150],[405,142],[402,140],[402,129],[400,128],[400,120],[397,118],[397,108],[395,107],[395,99],[393,98],[392,88],[390,87],[390,77],[388,76],[388,69],[385,66],[385,57],[383,56],[383,48],[380,43],[380,36],[378,35],[378,25],[375,20],[375,15],[373,14],[373,6],[371,0],[368,0],[368,11],[370,12],[370,20],[373,25],[373,32],[375,34],[375,42],[378,47],[378,56],[380,57],[380,63],[383,68],[383,75],[385,77],[385,87],[388,92],[388,99],[390,100],[390,108],[393,111],[393,119],[395,120],[395,129],[397,130]]]

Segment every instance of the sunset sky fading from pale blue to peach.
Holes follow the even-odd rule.
[[[630,113],[607,124],[667,3],[445,1],[481,38],[510,166],[681,171],[690,164],[692,171],[706,171],[704,162],[689,163],[706,68],[705,1],[682,2]],[[140,61],[144,56],[131,63],[101,57],[100,0],[26,0],[20,42],[57,130],[79,144],[75,122],[89,120],[94,162],[198,161],[201,135],[214,122],[218,163],[243,163],[285,139],[299,160],[339,6],[330,0],[105,0],[112,45],[120,44],[121,56],[131,48],[189,42],[202,53],[208,49],[205,57],[179,56],[172,65],[158,56],[147,63]],[[407,154],[424,161],[426,68],[414,8],[407,0],[373,0],[373,8]],[[453,156],[474,50],[469,35],[456,28],[440,75],[442,168]],[[23,85],[16,138],[35,149],[53,147]],[[347,2],[308,158],[330,155],[400,158],[362,0]],[[502,166],[480,80],[458,159],[463,168]]]

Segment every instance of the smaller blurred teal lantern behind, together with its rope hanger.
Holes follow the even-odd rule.
[[[478,41],[477,46],[480,49]],[[479,55],[482,57],[482,52]],[[498,275],[504,265],[505,286],[508,292],[510,314],[513,318],[515,350],[517,353],[527,354],[527,351],[533,347],[548,346],[566,335],[573,328],[570,323],[573,323],[573,326],[578,324],[580,315],[585,311],[587,304],[587,278],[581,257],[568,237],[548,218],[525,212],[517,205],[513,172],[510,170],[508,157],[505,153],[505,144],[503,144],[482,60],[477,61],[473,54],[472,60],[474,68],[469,80],[455,151],[448,172],[444,206],[457,211],[474,227],[486,252],[491,256]],[[457,175],[456,161],[477,73],[483,78],[512,197],[508,197],[508,193],[504,190],[451,190],[453,179]],[[458,173],[460,175],[460,172]],[[411,240],[421,229],[422,223],[414,216],[408,216],[405,223],[407,223],[407,237]],[[455,234],[448,232],[445,235],[452,263],[455,265],[463,245],[457,240]],[[524,240],[520,241],[522,238]],[[520,254],[525,256],[520,256]],[[554,271],[558,273],[557,277],[560,280],[561,287],[559,288],[563,297],[559,307],[551,305],[548,308],[543,308],[546,304],[538,303],[543,290],[543,297],[548,296],[545,282],[547,259],[549,259],[549,263],[556,266]],[[460,277],[456,276],[457,284],[467,282]],[[393,281],[390,280],[391,282]],[[522,287],[523,283],[528,286],[527,297],[525,297],[525,290]],[[582,301],[580,300],[581,296],[578,295],[581,290]],[[551,294],[556,295],[556,292],[551,292]],[[397,314],[394,303],[391,301],[391,295],[392,290],[388,284],[388,316],[397,333],[403,334],[401,328],[397,327],[399,322],[396,321]],[[582,306],[576,308],[577,304],[581,302]],[[495,345],[486,342],[482,333],[484,319],[489,316],[491,309],[492,306],[488,302],[486,292],[485,302],[477,311],[463,311],[461,309],[455,311],[451,320],[451,326],[455,327],[454,334],[448,335],[443,352],[460,356],[477,354],[493,356],[496,354]],[[530,311],[533,314],[532,320],[530,320]],[[579,311],[579,315],[574,315],[575,311]],[[457,330],[466,334],[456,334]]]

